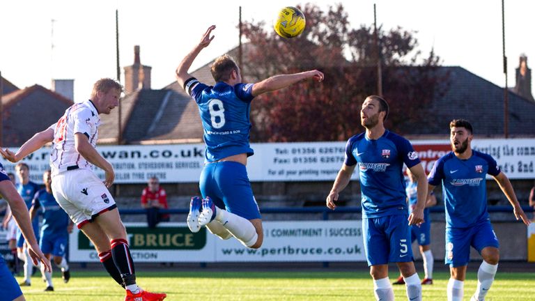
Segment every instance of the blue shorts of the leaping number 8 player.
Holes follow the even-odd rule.
[[[203,198],[210,196],[219,208],[245,219],[261,218],[244,164],[233,161],[205,164],[199,188]]]

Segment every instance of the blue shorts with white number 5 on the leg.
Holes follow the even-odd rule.
[[[368,265],[413,261],[408,215],[362,219]]]

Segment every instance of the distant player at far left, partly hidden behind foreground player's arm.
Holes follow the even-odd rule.
[[[18,163],[15,165],[15,171],[19,178],[19,183],[17,186],[17,191],[20,196],[26,203],[26,207],[30,210],[31,201],[36,192],[40,189],[39,185],[33,183],[30,180],[30,167],[26,163]],[[33,226],[33,233],[36,233],[36,238],[39,240],[39,219],[34,218],[31,220]],[[31,285],[31,275],[33,274],[33,265],[29,259],[28,250],[24,244],[24,236],[22,232],[17,230],[17,256],[21,261],[24,261],[24,280],[20,283],[21,286],[30,286]]]

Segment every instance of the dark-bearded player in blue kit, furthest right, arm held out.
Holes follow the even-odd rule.
[[[490,155],[472,150],[472,125],[463,119],[449,123],[452,152],[441,157],[428,176],[429,191],[442,183],[446,208],[446,258],[451,277],[447,286],[449,301],[463,300],[470,246],[481,254],[477,288],[470,300],[485,300],[498,268],[499,243],[487,211],[486,174],[498,183],[513,206],[516,219],[529,225],[529,219],[516,199],[509,178],[499,170]]]

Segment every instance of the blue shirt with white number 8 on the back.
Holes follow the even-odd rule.
[[[218,82],[215,86],[199,83],[192,89],[203,123],[206,162],[240,153],[254,154],[249,145],[252,87]]]

